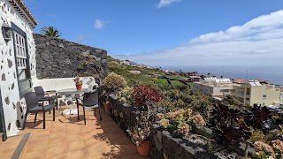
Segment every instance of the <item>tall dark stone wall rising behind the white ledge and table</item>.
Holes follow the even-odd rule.
[[[55,37],[34,34],[38,79],[72,78],[74,72],[93,76],[96,83],[107,76],[107,52]]]

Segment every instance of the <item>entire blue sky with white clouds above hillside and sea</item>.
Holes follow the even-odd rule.
[[[40,28],[151,66],[283,66],[282,0],[23,0]]]

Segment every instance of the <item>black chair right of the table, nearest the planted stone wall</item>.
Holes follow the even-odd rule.
[[[100,117],[100,120],[102,120],[101,113],[100,113],[100,107],[99,107],[99,103],[98,103],[98,92],[97,91],[91,92],[91,93],[84,93],[82,102],[79,102],[79,100],[77,98],[78,120],[80,120],[80,114],[79,114],[79,106],[80,105],[83,107],[83,119],[85,121],[85,125],[87,124],[85,107],[95,109],[95,113],[94,113],[95,116],[96,116],[96,108],[98,108],[99,117]]]

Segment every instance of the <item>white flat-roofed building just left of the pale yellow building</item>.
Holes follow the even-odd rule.
[[[231,95],[233,82],[230,79],[204,78],[202,81],[194,82],[193,88],[205,95],[225,96]]]

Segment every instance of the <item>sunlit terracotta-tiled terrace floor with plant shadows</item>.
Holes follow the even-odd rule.
[[[42,129],[42,114],[34,123],[34,115],[29,116],[26,129],[19,136],[12,137],[0,145],[1,158],[10,158],[18,146],[21,135],[31,133],[20,158],[147,158],[137,153],[136,147],[118,125],[102,110],[103,120],[93,111],[86,110],[87,125],[77,115],[63,117],[56,111],[52,121],[47,113],[46,129]],[[80,110],[82,114],[82,110]],[[4,157],[3,157],[4,156]]]

